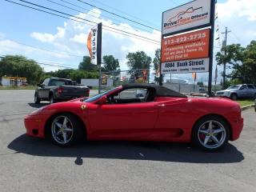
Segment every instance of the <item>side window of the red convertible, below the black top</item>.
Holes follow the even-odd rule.
[[[146,89],[128,89],[123,90],[118,95],[114,96],[114,99],[136,99],[136,98],[145,98]]]

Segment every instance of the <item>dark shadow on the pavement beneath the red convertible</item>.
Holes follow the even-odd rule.
[[[75,163],[82,164],[82,158],[115,158],[151,160],[163,162],[191,163],[234,163],[242,162],[242,153],[233,145],[209,153],[189,144],[167,142],[83,142],[77,146],[63,148],[53,143],[30,138],[26,134],[10,142],[9,149],[18,153],[49,157],[74,157]]]

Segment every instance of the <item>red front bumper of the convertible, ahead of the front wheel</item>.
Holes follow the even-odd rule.
[[[24,118],[26,134],[37,138],[45,138],[44,128],[46,125],[47,118],[47,115],[26,116],[26,118]]]

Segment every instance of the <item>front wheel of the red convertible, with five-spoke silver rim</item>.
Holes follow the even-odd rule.
[[[55,145],[73,146],[85,137],[84,126],[74,114],[58,114],[49,125],[48,134]]]

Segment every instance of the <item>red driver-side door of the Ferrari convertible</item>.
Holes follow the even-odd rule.
[[[135,92],[129,94],[133,101],[142,99],[136,98]],[[93,138],[147,140],[158,118],[156,102],[129,103],[128,99],[126,103],[98,105],[89,111]]]

